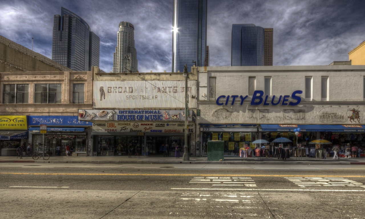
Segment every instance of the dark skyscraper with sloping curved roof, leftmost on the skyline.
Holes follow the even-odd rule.
[[[89,25],[72,11],[62,7],[54,15],[52,60],[75,71],[99,66],[100,39]]]

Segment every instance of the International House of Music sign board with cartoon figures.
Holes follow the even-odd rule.
[[[78,110],[80,121],[184,121],[185,110]],[[189,111],[188,121],[193,121]]]

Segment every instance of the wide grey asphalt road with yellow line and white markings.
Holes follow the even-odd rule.
[[[365,165],[0,163],[0,218],[365,218]]]

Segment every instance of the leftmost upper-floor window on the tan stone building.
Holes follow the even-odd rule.
[[[29,103],[29,84],[4,84],[3,103]]]

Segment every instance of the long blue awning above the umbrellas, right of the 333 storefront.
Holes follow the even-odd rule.
[[[331,132],[365,132],[365,125],[273,125],[261,124],[262,131],[294,132],[295,128],[304,131],[331,131]]]

